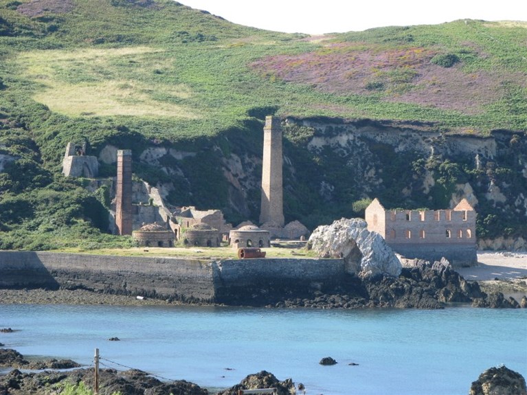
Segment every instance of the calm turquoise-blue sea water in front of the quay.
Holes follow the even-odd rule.
[[[26,359],[135,368],[225,388],[267,370],[306,394],[467,394],[484,370],[527,377],[527,309],[313,310],[1,305],[0,342]],[[120,341],[109,341],[118,337]],[[338,363],[320,365],[323,357]],[[350,365],[357,363],[358,365]]]

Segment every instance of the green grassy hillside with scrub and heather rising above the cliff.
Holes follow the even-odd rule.
[[[199,151],[178,163],[179,179],[137,157],[135,172],[175,183],[171,203],[225,208],[218,155],[260,155],[270,113],[422,122],[469,135],[525,131],[526,42],[527,23],[313,38],[169,0],[0,0],[0,248],[122,242],[98,230],[104,191],[60,175],[69,141],[87,139],[94,155],[105,144],[134,155],[148,145]],[[291,196],[312,187],[297,185]],[[291,196],[288,207],[298,206]]]

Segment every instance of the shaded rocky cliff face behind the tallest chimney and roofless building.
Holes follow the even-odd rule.
[[[199,150],[147,146],[141,166],[155,169],[172,205],[218,208],[235,225],[258,221],[263,124],[247,136],[218,137]],[[466,198],[478,212],[480,247],[526,249],[527,135],[449,135],[434,124],[287,118],[284,214],[309,229],[361,216],[362,199],[390,208],[450,208]],[[100,150],[104,161],[110,148]],[[151,176],[152,171],[149,170]],[[161,171],[159,171],[161,170]]]

